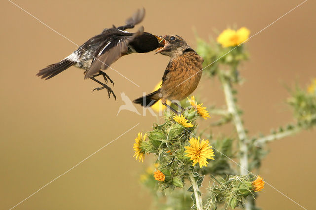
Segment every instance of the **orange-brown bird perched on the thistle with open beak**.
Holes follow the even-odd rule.
[[[170,56],[169,64],[162,77],[161,88],[133,102],[145,107],[155,104],[162,99],[162,104],[173,112],[178,111],[166,104],[166,100],[180,101],[189,96],[196,88],[202,76],[203,58],[200,57],[180,36],[165,35],[156,53]]]

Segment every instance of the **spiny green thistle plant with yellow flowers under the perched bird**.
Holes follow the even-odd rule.
[[[258,172],[268,154],[267,143],[316,125],[313,80],[308,88],[296,85],[289,89],[287,103],[293,109],[292,123],[269,135],[248,136],[235,87],[242,81],[239,66],[248,59],[244,43],[249,34],[242,27],[224,30],[216,41],[206,42],[197,37],[197,52],[204,58],[204,77],[221,82],[224,109],[206,108],[191,96],[181,102],[186,107],[181,115],[165,111],[163,124],[154,123],[152,131],[137,135],[134,157],[153,161],[140,180],[152,192],[158,209],[257,209],[255,199],[264,188]],[[219,115],[221,119],[214,122],[210,115]],[[201,120],[209,121],[211,126],[232,123],[235,129],[229,137],[214,138],[211,129],[198,129]]]

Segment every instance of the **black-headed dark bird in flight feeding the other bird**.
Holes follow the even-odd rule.
[[[71,55],[56,64],[51,64],[40,70],[36,75],[42,79],[50,79],[69,67],[75,66],[85,70],[85,79],[90,78],[102,85],[102,87],[94,90],[105,88],[108,91],[109,98],[111,93],[116,98],[109,86],[94,77],[102,75],[106,83],[108,80],[113,83],[110,77],[102,70],[107,69],[123,55],[134,52],[146,53],[159,47],[158,41],[161,40],[161,37],[144,32],[143,27],[140,27],[136,33],[125,31],[126,29],[134,28],[136,24],[144,19],[144,16],[145,9],[138,9],[132,17],[126,20],[125,26],[113,26],[113,28],[104,29],[101,34],[90,38]]]

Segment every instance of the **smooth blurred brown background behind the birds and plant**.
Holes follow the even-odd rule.
[[[222,31],[233,24],[248,27],[254,35],[303,0],[14,2],[79,45],[105,27],[122,25],[144,6],[146,31],[177,34],[195,47],[193,27],[204,39],[216,37],[214,28]],[[137,173],[149,162],[135,161],[132,145],[137,132],[150,130],[156,118],[128,111],[116,114],[124,104],[120,92],[134,99],[151,91],[168,57],[148,53],[118,60],[112,67],[140,87],[109,70],[116,101],[108,99],[106,91],[92,93],[97,84],[83,80],[83,70],[76,68],[44,81],[35,76],[38,70],[77,46],[9,1],[1,1],[0,7],[0,209],[13,207],[137,123],[15,209],[148,209],[150,196],[139,185]],[[238,105],[245,111],[250,135],[269,133],[292,121],[284,84],[305,86],[316,77],[315,8],[315,1],[309,0],[248,41],[251,58],[241,71],[246,81],[238,88]],[[201,91],[204,104],[223,105],[216,80],[204,78],[195,93]],[[271,143],[260,172],[307,209],[316,207],[315,134],[304,131]],[[263,209],[301,209],[268,185],[259,195]]]

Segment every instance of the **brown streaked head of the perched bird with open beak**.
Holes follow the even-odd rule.
[[[183,51],[190,49],[191,47],[187,44],[183,38],[178,35],[165,35],[162,40],[159,41],[159,48],[156,53],[174,57],[182,55]]]

